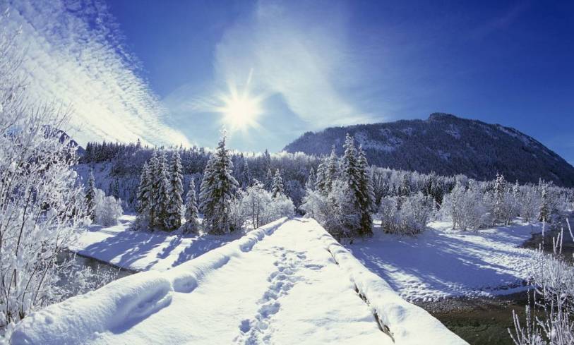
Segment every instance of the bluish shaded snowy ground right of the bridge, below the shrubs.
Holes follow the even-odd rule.
[[[433,222],[417,237],[375,231],[347,245],[353,255],[409,301],[493,296],[525,289],[522,279],[534,250],[519,248],[541,224],[452,231]]]

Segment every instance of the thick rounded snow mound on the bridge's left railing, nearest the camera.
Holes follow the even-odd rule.
[[[25,317],[11,344],[83,344],[92,334],[121,331],[165,308],[172,291],[158,272],[133,274]]]

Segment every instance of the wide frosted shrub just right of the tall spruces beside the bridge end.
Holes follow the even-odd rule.
[[[424,231],[432,212],[433,198],[419,192],[410,197],[381,200],[378,215],[385,232],[414,235]]]

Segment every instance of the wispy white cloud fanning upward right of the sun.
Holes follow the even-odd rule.
[[[312,128],[366,121],[341,91],[353,68],[342,8],[287,4],[261,1],[227,30],[217,44],[217,78],[244,80],[253,71],[255,87],[282,95]]]

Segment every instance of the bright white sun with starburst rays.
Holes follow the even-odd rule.
[[[249,94],[249,90],[229,87],[227,95],[220,97],[222,106],[217,111],[223,115],[222,121],[231,131],[246,131],[259,126],[262,114],[261,97]]]

